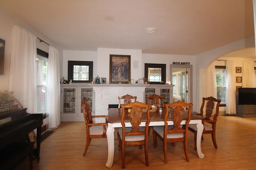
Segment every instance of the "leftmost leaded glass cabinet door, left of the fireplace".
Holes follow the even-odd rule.
[[[76,113],[76,89],[63,89],[63,114]]]

